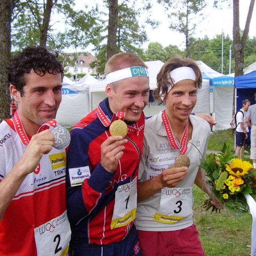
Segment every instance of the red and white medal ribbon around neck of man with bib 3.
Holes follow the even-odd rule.
[[[187,140],[188,140],[188,124],[189,124],[189,122],[188,121],[186,122],[185,129],[184,129],[184,132],[183,132],[181,140],[180,140],[180,146],[178,146],[178,144],[175,141],[173,132],[172,132],[172,127],[171,127],[168,117],[166,115],[166,110],[164,110],[162,112],[162,121],[164,124],[164,128],[165,128],[168,140],[169,140],[172,148],[173,149],[179,148],[181,155],[186,154],[186,152],[188,150],[188,147],[186,146],[186,144],[187,144]]]

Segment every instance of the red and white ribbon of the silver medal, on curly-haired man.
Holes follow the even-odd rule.
[[[28,138],[24,127],[22,125],[22,122],[20,120],[20,116],[18,113],[18,110],[15,111],[13,117],[12,117],[12,123],[14,125],[15,131],[18,134],[20,141],[22,142],[22,144],[24,146],[28,146],[30,139]],[[50,126],[56,127],[57,126],[57,121],[55,119],[52,119],[50,121],[48,121],[47,123],[43,124],[39,129],[38,132],[42,132],[46,129],[49,129]],[[38,174],[40,172],[40,163],[38,164],[37,168],[34,170],[34,173]]]

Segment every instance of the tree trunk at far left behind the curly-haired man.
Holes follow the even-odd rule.
[[[6,66],[11,60],[11,20],[14,0],[0,2],[0,121],[10,115],[10,93]]]

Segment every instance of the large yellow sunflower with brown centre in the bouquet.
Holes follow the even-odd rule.
[[[242,161],[240,158],[231,159],[232,164],[225,164],[226,170],[229,174],[240,177],[248,174],[248,171],[253,168],[248,161]]]

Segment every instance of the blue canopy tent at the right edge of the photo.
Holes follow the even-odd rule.
[[[235,77],[236,106],[242,108],[242,101],[248,99],[251,105],[255,104],[254,93],[256,92],[256,70],[242,76]]]

